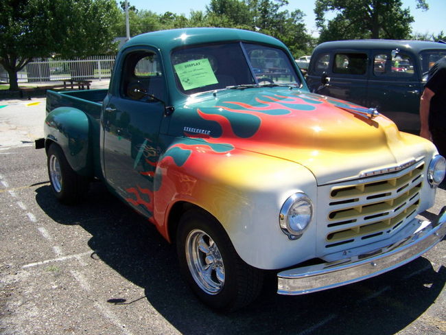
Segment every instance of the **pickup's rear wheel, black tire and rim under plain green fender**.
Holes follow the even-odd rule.
[[[73,204],[82,200],[89,190],[89,179],[74,172],[57,144],[49,146],[47,167],[51,190],[60,203]]]

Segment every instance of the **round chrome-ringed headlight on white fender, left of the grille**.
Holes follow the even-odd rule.
[[[283,233],[290,240],[301,237],[313,216],[313,205],[304,193],[296,193],[287,198],[282,206],[279,223]]]

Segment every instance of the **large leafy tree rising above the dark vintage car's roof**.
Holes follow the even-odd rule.
[[[401,0],[316,0],[316,25],[320,42],[355,38],[403,39],[410,36],[414,18]],[[416,7],[427,10],[425,0],[416,0]],[[326,20],[325,14],[336,14]]]

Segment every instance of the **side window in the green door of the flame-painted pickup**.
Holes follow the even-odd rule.
[[[153,101],[153,97],[165,100],[165,81],[158,54],[152,51],[134,51],[128,54],[123,73],[123,97],[146,102]]]

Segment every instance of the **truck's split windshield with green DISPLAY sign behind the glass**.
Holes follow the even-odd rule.
[[[172,65],[178,89],[185,94],[258,85],[300,86],[285,52],[266,45],[224,43],[176,49]]]

